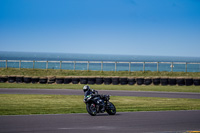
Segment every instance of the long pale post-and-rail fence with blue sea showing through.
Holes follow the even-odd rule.
[[[91,71],[200,72],[192,62],[29,61],[0,60],[0,68],[65,69]]]

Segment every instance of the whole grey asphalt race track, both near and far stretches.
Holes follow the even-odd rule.
[[[114,96],[142,96],[168,98],[195,98],[199,93],[99,91]],[[6,89],[0,94],[51,94],[83,95],[82,90],[72,89]],[[200,131],[200,110],[150,111],[106,113],[95,117],[89,114],[13,115],[0,116],[0,133],[184,133]]]

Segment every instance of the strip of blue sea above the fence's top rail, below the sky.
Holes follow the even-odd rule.
[[[200,57],[0,51],[0,60],[188,62],[188,63],[197,62],[199,63]]]

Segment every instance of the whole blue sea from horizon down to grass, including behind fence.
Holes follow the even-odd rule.
[[[88,64],[88,62],[91,63]],[[0,68],[5,67],[93,71],[200,72],[200,57],[0,51]]]

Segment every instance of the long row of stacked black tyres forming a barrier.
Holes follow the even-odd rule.
[[[93,77],[93,76],[48,76],[30,77],[22,75],[0,75],[0,83],[40,83],[40,84],[105,84],[105,85],[200,85],[200,77]]]

